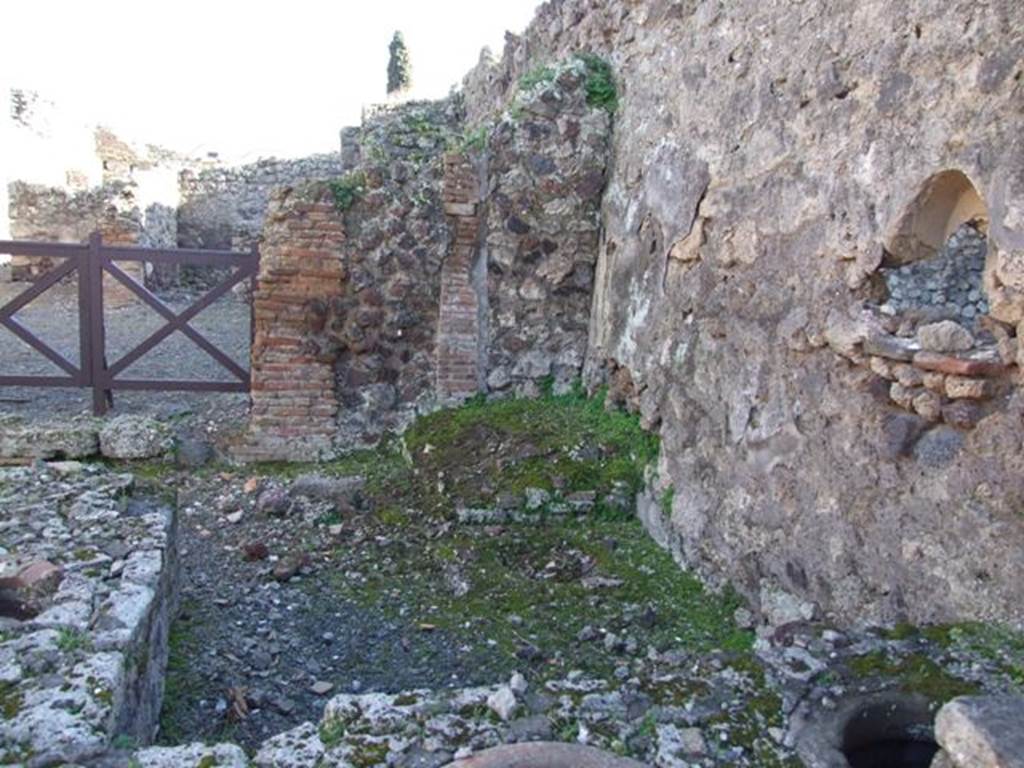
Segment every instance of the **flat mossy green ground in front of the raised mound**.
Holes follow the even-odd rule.
[[[544,676],[564,675],[566,666],[610,676],[617,664],[614,655],[601,642],[577,642],[586,625],[620,628],[643,644],[697,652],[717,648],[742,654],[753,644],[752,634],[738,630],[731,620],[735,605],[707,593],[650,541],[637,520],[511,524],[501,536],[460,526],[433,541],[410,535],[402,547],[396,551],[392,543],[385,552],[367,546],[358,568],[366,581],[338,573],[333,591],[395,620],[406,615],[437,632],[461,637],[469,633],[479,640],[471,643],[475,647],[484,646],[486,639],[505,659],[509,674],[522,664],[516,651],[528,639],[549,662]],[[374,564],[385,556],[392,558],[394,567],[375,570]],[[550,562],[556,563],[554,569],[548,567]],[[600,594],[588,590],[580,562],[592,563],[592,573],[622,584]],[[453,564],[460,566],[468,584],[465,594],[456,595],[446,585]],[[654,626],[623,627],[625,604],[650,605]],[[515,625],[508,621],[513,614],[519,617]]]

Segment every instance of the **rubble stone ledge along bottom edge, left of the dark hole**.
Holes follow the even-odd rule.
[[[694,671],[699,670],[700,684]],[[738,721],[754,683],[728,666],[725,654],[696,658],[685,651],[624,659],[616,679],[569,673],[532,688],[521,675],[508,683],[451,690],[341,694],[332,698],[318,725],[304,723],[265,741],[252,761],[259,768],[439,768],[499,744],[569,741],[611,752],[647,756],[663,768],[759,766],[782,731],[767,721],[749,723],[761,750],[735,742]],[[135,753],[141,768],[184,765],[224,756],[219,765],[247,766],[230,744],[153,748]],[[233,761],[233,762],[231,762]]]

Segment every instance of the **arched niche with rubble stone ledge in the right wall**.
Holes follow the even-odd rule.
[[[849,318],[834,313],[825,331],[837,352],[874,374],[874,391],[919,417],[911,436],[887,443],[893,457],[931,461],[930,443],[920,455],[915,445],[940,423],[936,434],[959,445],[949,430],[972,428],[1013,385],[1015,330],[993,323],[986,290],[988,224],[986,201],[965,173],[929,176],[889,230],[863,302]]]

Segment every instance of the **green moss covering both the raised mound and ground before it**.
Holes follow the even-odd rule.
[[[750,655],[753,635],[731,617],[735,596],[708,593],[631,513],[599,503],[587,515],[542,515],[500,531],[439,527],[454,517],[457,501],[487,506],[528,487],[562,496],[595,490],[598,500],[617,489],[632,503],[657,455],[657,438],[636,416],[606,410],[603,394],[476,398],[418,420],[403,437],[404,451],[387,443],[319,468],[367,475],[381,534],[339,552],[344,567],[328,574],[333,594],[414,629],[489,648],[509,670],[522,666],[517,653],[524,646],[534,646],[546,677],[567,669],[610,676],[622,664],[600,639],[578,641],[588,625],[635,637],[641,648]],[[353,570],[362,578],[351,579]],[[453,589],[453,575],[463,590]],[[614,586],[588,589],[586,575]],[[624,618],[627,606],[647,613],[653,626]]]

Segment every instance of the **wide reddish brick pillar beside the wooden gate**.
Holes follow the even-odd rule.
[[[291,195],[286,188],[271,200],[260,249],[252,411],[234,449],[242,461],[323,458],[337,431],[334,360],[309,342],[323,330],[326,303],[342,293],[344,227],[331,202]]]

